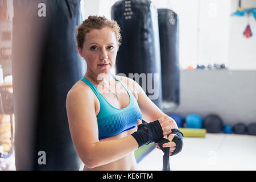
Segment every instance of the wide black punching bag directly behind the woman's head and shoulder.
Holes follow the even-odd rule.
[[[152,102],[162,109],[157,9],[148,0],[118,1],[111,13],[122,35],[116,61],[118,75],[125,74],[137,81]]]

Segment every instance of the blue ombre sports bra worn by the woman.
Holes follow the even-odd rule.
[[[111,74],[112,75],[112,74]],[[112,75],[115,80],[118,80],[122,85],[123,83],[117,77]],[[92,84],[87,78],[82,77],[80,80],[84,81],[90,86],[100,101],[100,112],[97,115],[98,121],[98,139],[108,138],[123,131],[133,129],[137,126],[137,119],[142,120],[141,109],[133,93],[123,85],[127,90],[130,97],[130,103],[127,107],[118,109],[109,104],[109,102],[102,96],[95,85]]]

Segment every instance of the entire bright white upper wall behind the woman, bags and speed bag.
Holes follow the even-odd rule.
[[[84,18],[111,18],[117,0],[81,0]],[[238,0],[151,0],[156,8],[168,8],[179,16],[180,68],[188,65],[225,63],[229,69],[256,70],[256,20],[250,17],[254,35],[246,39],[245,16],[231,16]],[[242,7],[256,7],[256,0],[242,1]]]

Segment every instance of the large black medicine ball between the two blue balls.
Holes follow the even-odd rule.
[[[222,119],[216,114],[208,115],[203,122],[207,133],[220,133],[222,131]]]

